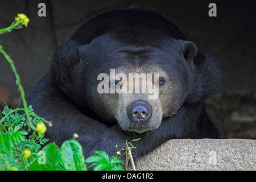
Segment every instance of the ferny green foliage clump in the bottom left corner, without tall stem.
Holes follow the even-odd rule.
[[[30,115],[34,113],[31,106],[27,109]],[[28,126],[25,114],[13,113],[8,106],[3,109],[0,119],[0,164],[2,164],[2,169],[27,170],[26,165],[36,157],[42,145],[49,139],[44,138],[44,134],[39,135],[35,131],[27,137],[28,132],[24,130]],[[42,121],[34,118],[31,123],[36,126]]]

